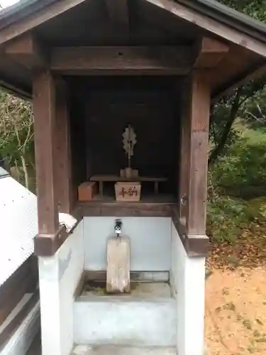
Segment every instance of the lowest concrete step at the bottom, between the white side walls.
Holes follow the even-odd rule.
[[[71,355],[177,355],[174,347],[138,347],[116,345],[77,345]]]

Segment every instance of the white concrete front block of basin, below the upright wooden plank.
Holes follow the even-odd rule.
[[[131,295],[77,297],[74,343],[174,346],[177,302],[169,288],[167,284],[142,284]]]

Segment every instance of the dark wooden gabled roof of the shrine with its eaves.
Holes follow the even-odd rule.
[[[265,70],[266,26],[214,0],[21,0],[1,11],[1,48],[28,31],[48,51],[62,46],[174,47],[214,38],[229,50],[210,72],[213,97]],[[31,68],[1,55],[2,86],[31,97],[31,80]]]

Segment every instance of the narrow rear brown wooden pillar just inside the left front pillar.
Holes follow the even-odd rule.
[[[70,146],[70,111],[68,107],[67,84],[56,82],[56,188],[60,212],[70,213],[72,204],[72,168]]]

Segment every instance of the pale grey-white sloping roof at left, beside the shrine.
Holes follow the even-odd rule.
[[[6,170],[0,168],[0,174]],[[4,175],[2,175],[4,176]],[[0,288],[33,253],[37,197],[8,175],[0,178]]]

